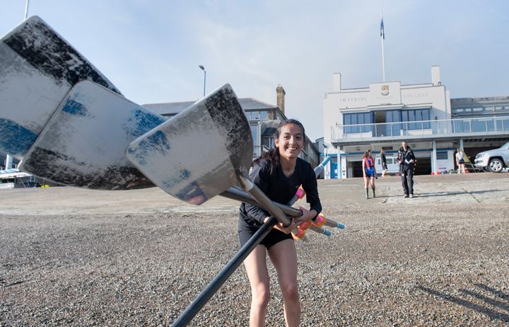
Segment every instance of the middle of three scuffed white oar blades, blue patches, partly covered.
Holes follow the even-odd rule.
[[[62,101],[20,168],[57,183],[103,190],[153,184],[125,157],[136,137],[165,117],[90,81]]]

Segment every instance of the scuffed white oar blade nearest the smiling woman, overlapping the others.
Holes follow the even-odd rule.
[[[130,144],[127,158],[165,192],[200,205],[237,185],[252,136],[227,84]]]

